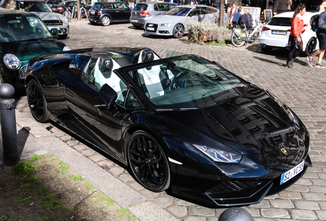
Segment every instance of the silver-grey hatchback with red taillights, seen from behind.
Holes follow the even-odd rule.
[[[137,29],[143,28],[148,19],[165,14],[174,7],[164,2],[138,3],[131,12],[130,23]]]

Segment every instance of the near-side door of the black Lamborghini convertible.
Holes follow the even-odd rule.
[[[100,86],[96,85],[91,72],[94,70],[97,59],[98,57],[91,58],[88,61],[87,70],[83,71],[79,78],[66,82],[65,100],[70,113],[74,116],[74,121],[89,133],[93,138],[92,142],[120,160],[122,156],[121,128],[126,116],[126,109],[123,107],[125,97],[120,90],[114,105],[109,107],[100,98],[98,93]],[[114,72],[111,73],[111,78],[113,77],[120,84],[121,79]]]

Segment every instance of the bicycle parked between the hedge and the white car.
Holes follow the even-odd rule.
[[[234,28],[231,35],[232,45],[235,47],[241,47],[246,42],[254,42],[261,34],[262,23],[260,20],[255,20],[254,30],[248,34],[246,24],[244,29]]]

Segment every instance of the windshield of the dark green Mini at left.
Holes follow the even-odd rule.
[[[49,30],[38,17],[0,17],[0,43],[49,38]]]

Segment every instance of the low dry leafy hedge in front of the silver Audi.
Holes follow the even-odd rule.
[[[193,20],[187,21],[188,38],[194,42],[197,41],[216,41],[222,43],[225,39],[231,37],[232,30],[226,26],[218,27],[214,21],[199,23]]]

